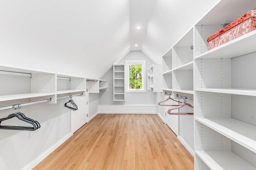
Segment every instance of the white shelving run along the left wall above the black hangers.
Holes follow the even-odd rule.
[[[51,98],[50,104],[56,104],[56,98],[82,94],[85,96],[86,78],[67,74],[56,74],[40,70],[30,70],[9,66],[0,66],[1,93],[0,102],[25,103]],[[108,89],[108,81],[91,79],[90,92]],[[95,85],[95,86],[94,86]],[[94,90],[94,91],[93,91]],[[16,101],[19,100],[19,101]]]

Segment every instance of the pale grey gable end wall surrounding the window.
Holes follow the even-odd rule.
[[[154,64],[141,51],[131,51],[119,63],[124,64],[126,60],[146,60],[146,70]],[[108,91],[103,92],[100,97],[100,105],[118,105],[118,104],[156,104],[155,93],[146,90],[146,93],[126,93],[125,101],[113,101],[113,66],[102,77],[108,80]]]

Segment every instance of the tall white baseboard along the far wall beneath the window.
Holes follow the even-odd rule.
[[[156,104],[144,105],[98,105],[98,113],[157,114]]]

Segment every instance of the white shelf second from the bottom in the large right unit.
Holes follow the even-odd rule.
[[[196,121],[256,153],[256,126],[233,118],[195,118]]]

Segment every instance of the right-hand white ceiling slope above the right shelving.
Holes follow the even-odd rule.
[[[142,51],[156,64],[220,0],[155,0]]]

